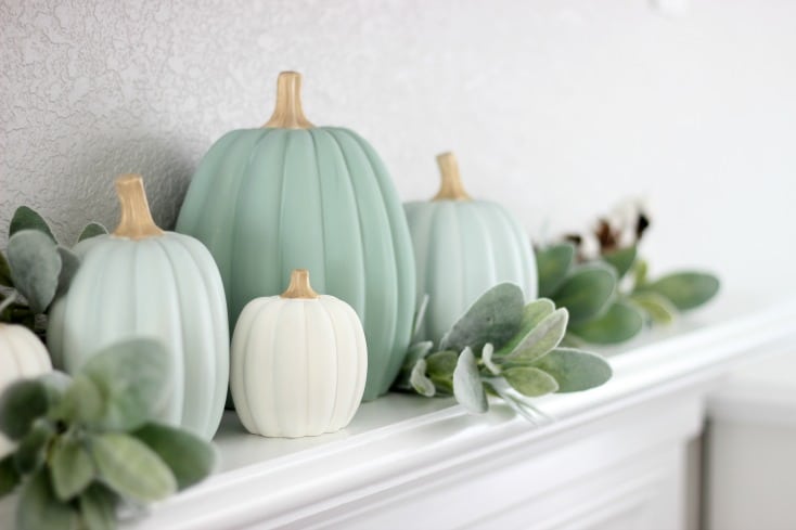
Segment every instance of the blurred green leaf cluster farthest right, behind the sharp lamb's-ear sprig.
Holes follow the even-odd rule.
[[[536,259],[539,295],[569,310],[567,344],[624,342],[645,324],[668,324],[679,311],[702,306],[719,290],[718,279],[701,271],[649,281],[635,245],[576,263],[575,247],[562,243],[538,248]]]

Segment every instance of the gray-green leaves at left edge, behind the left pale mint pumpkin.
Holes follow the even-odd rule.
[[[88,224],[78,241],[106,233],[98,223]],[[7,256],[0,253],[0,321],[23,324],[39,335],[36,316],[68,288],[80,260],[59,245],[50,225],[21,206],[9,225]]]

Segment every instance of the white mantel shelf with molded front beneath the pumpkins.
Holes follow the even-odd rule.
[[[228,412],[219,470],[125,527],[686,528],[684,448],[706,393],[796,339],[796,303],[740,307],[722,300],[612,352],[608,384],[536,400],[555,418],[544,425],[500,401],[473,416],[389,395],[342,432],[285,440],[247,435]]]

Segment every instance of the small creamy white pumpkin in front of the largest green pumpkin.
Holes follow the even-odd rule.
[[[334,432],[364,391],[368,349],[357,313],[319,296],[295,270],[281,296],[255,298],[232,335],[231,389],[249,432],[296,438]]]

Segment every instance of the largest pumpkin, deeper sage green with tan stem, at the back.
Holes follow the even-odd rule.
[[[409,345],[412,244],[378,155],[348,129],[309,124],[299,80],[280,75],[266,127],[229,132],[210,147],[177,231],[216,259],[231,328],[251,300],[282,293],[294,269],[308,269],[318,290],[348,302],[364,327],[363,399],[372,400],[388,390]]]

